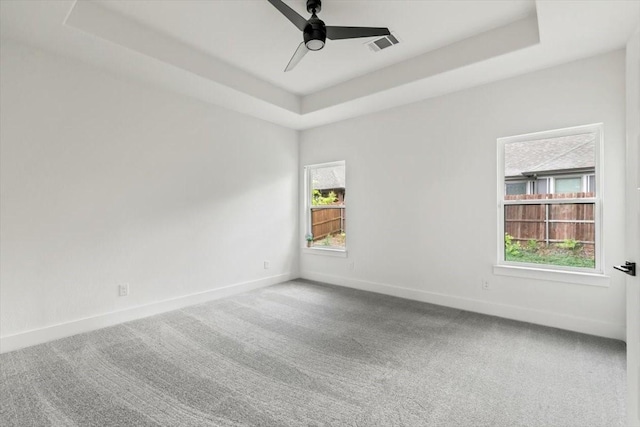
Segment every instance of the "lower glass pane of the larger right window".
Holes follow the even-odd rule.
[[[504,258],[595,268],[595,204],[506,205]]]

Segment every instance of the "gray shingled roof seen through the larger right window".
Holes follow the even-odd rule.
[[[544,175],[595,168],[595,134],[562,136],[504,146],[504,175]]]

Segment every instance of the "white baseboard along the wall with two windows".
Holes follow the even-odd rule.
[[[625,325],[619,325],[616,323],[602,322],[599,320],[593,320],[584,317],[570,316],[544,310],[535,310],[515,305],[499,304],[490,301],[464,298],[437,292],[403,288],[399,286],[388,285],[385,283],[370,282],[348,277],[332,276],[311,271],[301,272],[301,277],[317,282],[324,282],[332,285],[344,286],[347,288],[359,289],[363,291],[376,292],[379,294],[390,295],[398,298],[422,301],[431,304],[457,308],[459,310],[472,311],[475,313],[482,313],[490,316],[519,320],[521,322],[550,326],[553,328],[581,332],[589,335],[613,338],[622,341],[625,341],[626,339]]]

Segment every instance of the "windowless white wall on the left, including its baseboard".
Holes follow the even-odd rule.
[[[1,64],[3,351],[297,276],[295,131],[6,40]]]

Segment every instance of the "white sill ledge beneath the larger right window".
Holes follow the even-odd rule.
[[[544,268],[521,267],[515,265],[494,265],[493,274],[497,276],[521,277],[524,279],[547,280],[551,282],[601,287],[609,287],[611,279],[609,276],[599,273],[547,270]]]

